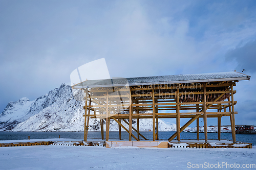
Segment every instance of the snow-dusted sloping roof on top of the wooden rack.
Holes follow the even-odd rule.
[[[150,85],[150,84],[174,84],[174,83],[200,83],[214,81],[234,81],[250,80],[250,76],[240,72],[217,72],[208,74],[193,75],[171,75],[171,76],[151,76],[135,78],[117,78],[106,80],[87,80],[76,84],[73,88],[93,88],[93,87],[113,87],[124,85]],[[128,84],[129,83],[129,84]]]

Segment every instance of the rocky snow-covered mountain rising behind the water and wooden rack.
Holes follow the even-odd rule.
[[[74,95],[76,99],[83,98],[80,90]],[[0,131],[83,131],[84,102],[75,100],[74,95],[71,86],[61,84],[34,101],[22,98],[10,102],[0,114]],[[133,126],[137,127],[136,119]],[[140,119],[141,131],[152,130],[152,127],[151,119]],[[100,131],[99,119],[90,120],[89,131]],[[114,120],[111,120],[110,131],[118,131]],[[176,131],[176,125],[159,119],[159,131]]]

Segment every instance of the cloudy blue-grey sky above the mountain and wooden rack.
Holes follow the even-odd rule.
[[[103,57],[111,77],[245,69],[251,80],[234,88],[236,124],[256,125],[255,1],[0,0],[0,112]]]

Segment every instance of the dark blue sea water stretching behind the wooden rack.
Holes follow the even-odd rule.
[[[175,132],[159,132],[160,139],[168,139]],[[137,137],[137,133],[133,132]],[[141,132],[147,139],[153,139],[153,132]],[[46,138],[70,138],[83,140],[83,132],[0,132],[0,140],[18,139],[46,139]],[[105,133],[104,133],[105,136]],[[88,138],[101,138],[101,132],[88,132]],[[199,133],[199,138],[204,139],[204,133]],[[110,139],[119,139],[118,132],[110,132]],[[129,139],[127,132],[122,132],[122,139]],[[197,139],[197,133],[181,132],[181,139]],[[208,139],[218,139],[217,133],[208,133]],[[221,139],[232,140],[231,133],[222,133]],[[248,142],[256,145],[256,134],[236,134],[237,141]],[[1,142],[1,141],[0,141]]]

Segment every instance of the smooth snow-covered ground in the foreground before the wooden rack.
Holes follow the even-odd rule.
[[[192,169],[197,164],[223,169],[233,169],[230,166],[238,167],[239,164],[240,168],[234,169],[244,169],[243,164],[248,167],[255,164],[255,160],[255,147],[162,149],[41,145],[0,148],[1,169]],[[229,164],[229,168],[224,163]]]

